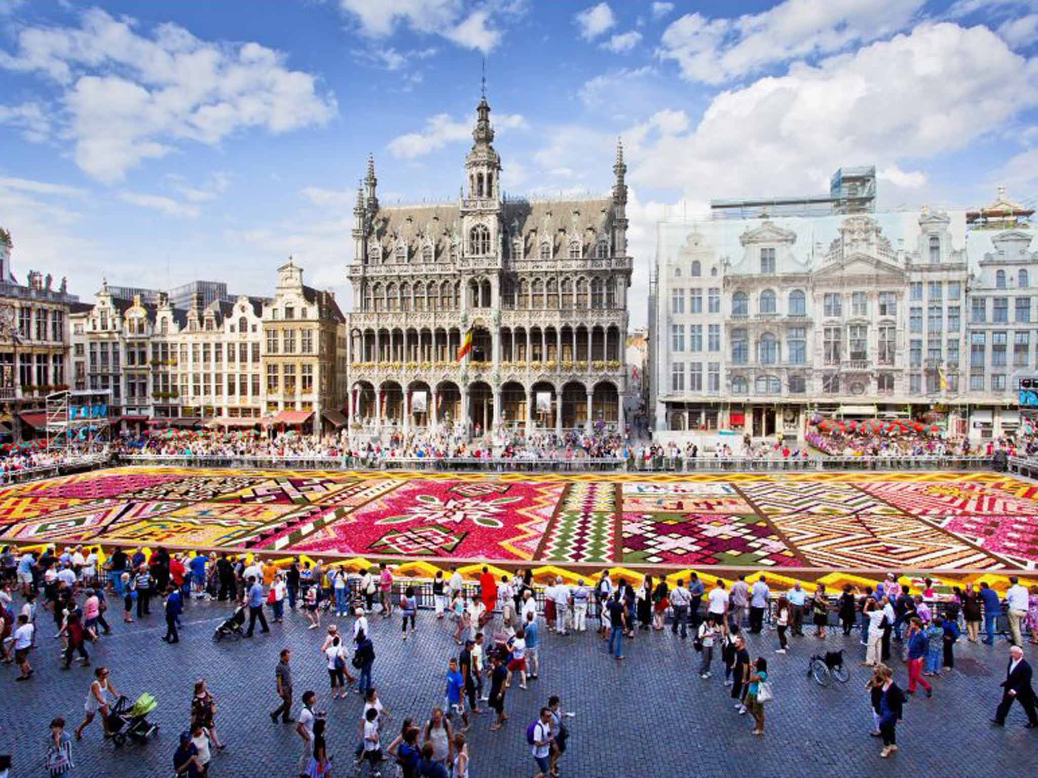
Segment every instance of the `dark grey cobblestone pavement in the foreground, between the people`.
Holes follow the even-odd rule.
[[[170,775],[177,733],[187,719],[193,682],[204,676],[216,696],[217,729],[228,745],[214,754],[210,772],[221,776],[295,776],[299,738],[291,725],[271,724],[274,707],[273,670],[281,647],[293,649],[296,707],[306,689],[319,694],[319,708],[328,712],[329,753],[334,774],[352,775],[352,750],[361,710],[359,697],[329,698],[324,658],[318,648],[325,631],[307,630],[301,614],[286,613],[284,624],[272,633],[240,642],[214,644],[212,633],[227,610],[223,604],[193,603],[184,614],[179,645],[167,645],[158,609],[143,622],[124,624],[113,619],[114,634],[90,648],[94,665],[112,670],[116,688],[131,697],[144,691],[158,699],[152,719],[161,725],[157,740],[120,749],[102,742],[98,722],[75,744],[75,776]],[[329,622],[328,614],[323,622]],[[349,629],[352,618],[337,619]],[[405,716],[425,719],[443,699],[446,659],[457,655],[449,622],[437,622],[429,611],[418,616],[415,639],[403,642],[400,622],[372,618],[377,659],[374,680],[393,718],[389,740]],[[92,668],[74,665],[58,668],[58,641],[53,628],[40,622],[40,647],[32,652],[36,668],[31,682],[15,683],[16,673],[4,666],[0,673],[3,713],[0,717],[0,753],[13,753],[12,776],[45,775],[44,745],[52,717],[62,716],[70,729],[80,721]],[[546,631],[542,630],[542,634]],[[769,662],[775,700],[767,707],[767,733],[750,735],[752,722],[733,710],[728,689],[721,686],[719,661],[715,673],[702,679],[695,673],[699,655],[691,640],[665,634],[639,632],[625,641],[624,662],[603,652],[594,634],[567,637],[547,634],[541,648],[541,677],[527,691],[513,688],[506,706],[511,716],[499,732],[490,732],[489,716],[476,717],[468,737],[473,778],[530,776],[536,770],[525,742],[526,725],[558,694],[576,717],[567,724],[569,749],[561,763],[566,776],[849,776],[896,775],[914,771],[939,776],[1033,775],[1038,734],[1023,728],[1018,706],[1005,728],[988,719],[1000,699],[999,680],[1007,657],[1005,641],[994,648],[957,645],[958,669],[936,679],[935,694],[921,694],[906,705],[898,728],[900,752],[879,757],[879,743],[869,738],[869,699],[863,690],[866,670],[857,666],[861,651],[856,634],[844,638],[837,631],[825,645],[846,646],[851,659],[850,683],[828,688],[805,677],[808,657],[821,650],[813,637],[793,638],[791,652],[774,654],[773,633],[754,638],[752,656],[764,652]],[[1028,658],[1038,662],[1038,651],[1028,646]],[[903,686],[907,675],[894,660]],[[391,770],[385,774],[391,775]]]

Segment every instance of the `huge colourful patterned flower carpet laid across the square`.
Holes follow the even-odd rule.
[[[113,468],[0,489],[0,541],[826,569],[1038,567],[1038,487],[994,473]]]

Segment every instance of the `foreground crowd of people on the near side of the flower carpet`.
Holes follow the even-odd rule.
[[[927,697],[933,695],[941,675],[954,670],[960,636],[992,645],[995,619],[1005,605],[1012,652],[992,721],[1005,724],[1012,703],[1018,701],[1028,726],[1038,727],[1030,666],[1022,658],[1026,632],[1030,643],[1038,644],[1038,586],[1029,591],[1015,578],[1010,578],[1004,598],[986,582],[938,592],[930,579],[907,585],[893,574],[874,586],[847,585],[835,596],[821,583],[814,592],[800,583],[772,591],[767,574],[752,581],[740,576],[730,588],[721,580],[707,582],[692,574],[689,581],[679,580],[672,587],[651,575],[614,580],[604,571],[588,582],[580,579],[568,585],[559,577],[540,587],[528,569],[496,579],[484,567],[473,586],[454,567],[431,582],[395,581],[385,563],[351,572],[321,560],[294,559],[278,566],[270,559],[225,553],[168,553],[159,548],[145,555],[115,549],[105,556],[99,548],[75,547],[43,554],[6,548],[0,554],[0,659],[17,667],[21,682],[33,677],[31,650],[47,621],[62,641],[61,667],[67,669],[77,657],[82,666],[90,665],[88,646],[115,629],[109,621],[115,620],[110,610],[117,611],[119,605],[127,624],[135,619],[146,622],[153,607],[161,607],[166,621],[162,639],[171,644],[180,642],[182,613],[195,600],[234,603],[234,615],[220,624],[217,637],[252,638],[257,628],[268,634],[271,622],[282,623],[289,612],[300,611],[309,630],[325,628],[318,652],[326,663],[331,698],[346,698],[348,689],[355,687],[364,700],[354,757],[358,770],[373,776],[388,762],[405,777],[467,778],[473,754],[466,732],[485,712],[491,714],[490,731],[504,726],[508,690],[527,690],[540,674],[542,630],[558,637],[597,632],[608,654],[620,662],[625,659],[625,641],[639,639],[639,632],[662,632],[667,620],[676,638],[691,635],[699,654],[696,674],[704,682],[713,676],[714,657],[719,655],[727,693],[737,712],[753,719],[750,731],[757,735],[765,733],[766,703],[776,694],[767,655],[795,650],[794,640],[805,636],[808,626],[814,626],[818,639],[826,637],[834,622],[844,636],[859,629],[863,665],[872,670],[867,686],[871,732],[882,739],[885,757],[898,751],[897,723],[906,695],[919,689]],[[425,723],[405,718],[399,730],[390,730],[388,702],[373,682],[376,650],[370,619],[399,617],[401,639],[406,641],[415,633],[419,607],[431,609],[436,622],[446,623],[444,629],[459,650],[444,660],[442,706],[433,708]],[[347,627],[344,618],[352,618],[352,623]],[[757,638],[756,656],[750,656],[748,636],[761,636],[766,627],[773,628],[774,642],[768,647],[766,639]],[[834,661],[842,662],[842,654]],[[904,690],[895,682],[892,658],[904,664]],[[315,690],[305,691],[301,707],[295,708],[294,666],[292,651],[281,650],[274,668],[277,706],[269,716],[273,723],[295,723],[301,749],[299,775],[325,776],[330,769],[328,722],[318,713]],[[72,744],[99,717],[106,737],[114,734],[117,700],[111,670],[97,667],[83,719],[72,735],[65,732],[63,719],[51,722],[47,765],[52,775],[72,770]],[[216,701],[204,679],[194,685],[189,707],[174,770],[177,775],[204,776],[214,754],[225,748],[217,734]],[[540,778],[558,774],[569,716],[558,697],[550,695],[526,727],[526,746]]]

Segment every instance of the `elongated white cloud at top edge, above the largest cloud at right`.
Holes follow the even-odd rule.
[[[686,13],[663,32],[657,55],[688,81],[722,84],[790,60],[832,54],[903,29],[925,0],[786,0],[757,15]]]

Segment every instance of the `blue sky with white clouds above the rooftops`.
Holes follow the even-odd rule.
[[[0,0],[0,226],[13,268],[269,295],[294,255],[351,295],[383,203],[458,197],[485,63],[512,195],[601,194],[623,138],[646,321],[655,224],[712,198],[880,209],[1038,196],[1038,0]]]

